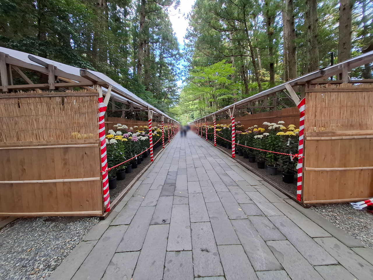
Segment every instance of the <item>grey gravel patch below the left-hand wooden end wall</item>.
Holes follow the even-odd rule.
[[[0,230],[0,279],[47,279],[98,217],[20,218]]]

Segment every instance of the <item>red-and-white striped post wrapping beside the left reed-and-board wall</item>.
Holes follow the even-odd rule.
[[[101,149],[101,172],[102,172],[102,189],[104,195],[105,212],[110,211],[110,194],[109,194],[109,174],[107,173],[107,155],[106,155],[106,135],[105,119],[106,105],[103,97],[98,97],[98,137],[100,139]]]

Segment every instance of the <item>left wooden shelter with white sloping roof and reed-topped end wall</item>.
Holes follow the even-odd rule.
[[[109,211],[104,113],[110,96],[123,112],[151,115],[144,125],[177,123],[100,72],[0,47],[0,76],[0,216]]]

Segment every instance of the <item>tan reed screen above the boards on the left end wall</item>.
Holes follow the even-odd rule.
[[[94,92],[0,97],[0,141],[98,139]]]

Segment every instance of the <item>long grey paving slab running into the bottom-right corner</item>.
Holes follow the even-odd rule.
[[[314,239],[357,279],[372,279],[373,266],[334,237]]]

